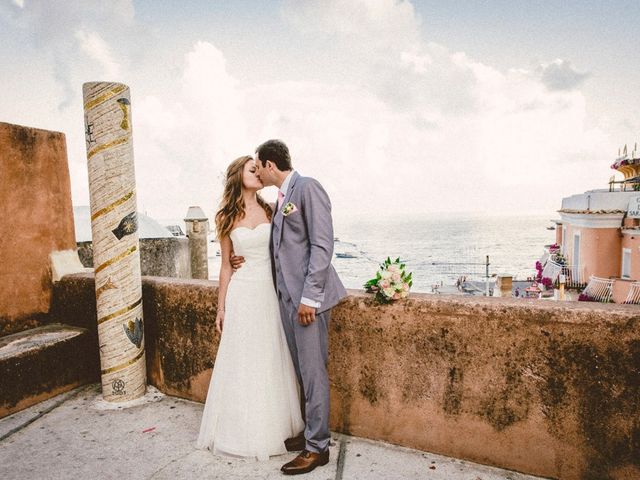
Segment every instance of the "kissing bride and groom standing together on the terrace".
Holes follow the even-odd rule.
[[[258,194],[278,188],[276,205]],[[227,168],[216,213],[221,334],[197,446],[267,460],[285,475],[329,462],[328,330],[346,290],[333,266],[331,202],[280,140]]]

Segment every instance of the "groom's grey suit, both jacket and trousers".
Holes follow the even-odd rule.
[[[294,208],[288,215],[284,207]],[[306,449],[329,446],[329,377],[327,373],[330,309],[347,292],[331,265],[331,202],[320,183],[293,172],[286,196],[271,227],[273,280],[291,357],[304,391]],[[320,304],[313,323],[298,322],[302,299]]]

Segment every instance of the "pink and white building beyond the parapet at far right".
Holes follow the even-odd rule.
[[[583,299],[640,303],[640,154],[625,146],[611,168],[623,178],[608,189],[562,199],[543,276],[586,284]]]

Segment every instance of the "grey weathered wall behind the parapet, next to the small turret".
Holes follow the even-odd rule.
[[[93,243],[78,242],[82,265],[93,267]],[[187,238],[141,238],[140,269],[153,277],[191,278],[191,258]]]

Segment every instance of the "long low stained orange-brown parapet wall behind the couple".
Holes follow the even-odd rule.
[[[148,378],[167,393],[205,398],[215,285],[143,279]],[[91,275],[65,277],[55,314],[95,324],[92,294]],[[637,306],[432,295],[377,306],[352,291],[333,311],[330,382],[334,430],[552,478],[640,478]]]

